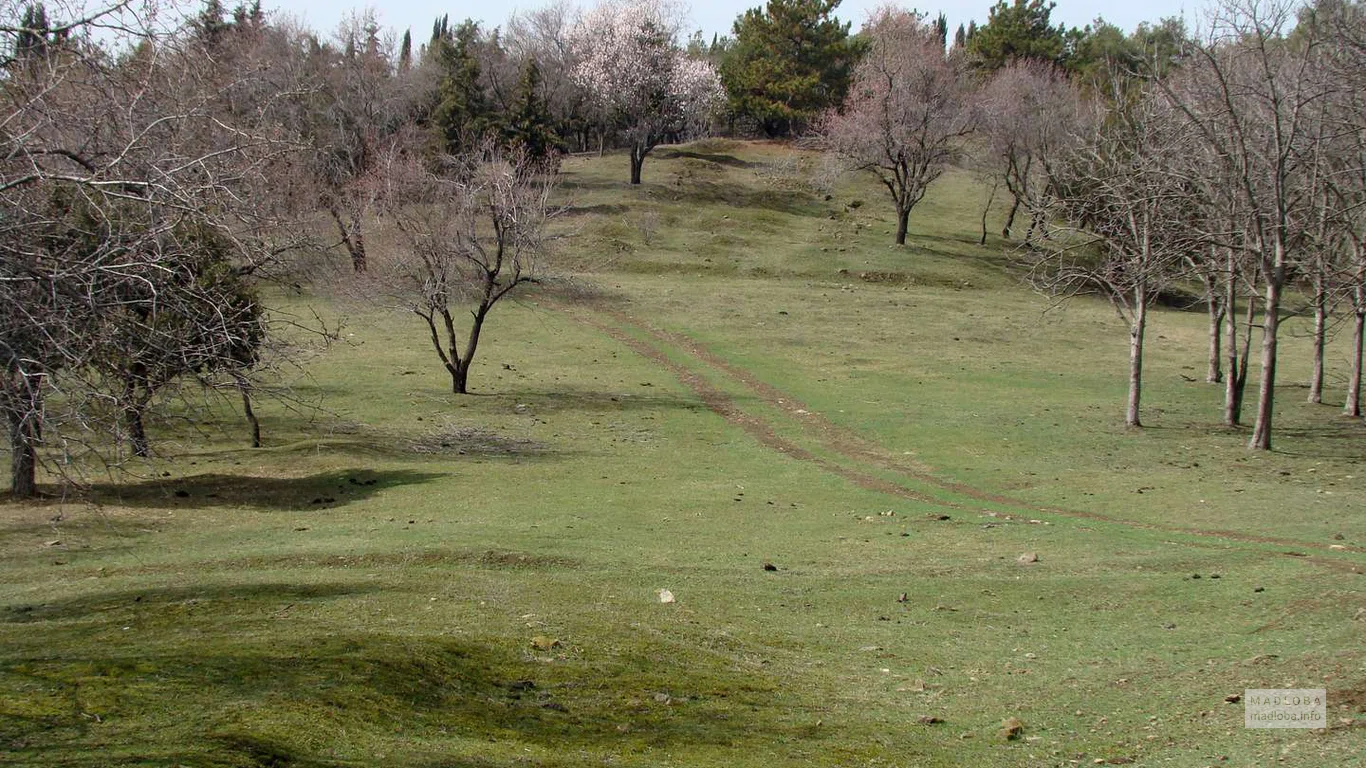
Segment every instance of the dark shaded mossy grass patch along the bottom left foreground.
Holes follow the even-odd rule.
[[[414,752],[387,764],[454,768],[510,764],[501,756],[523,748],[607,757],[813,738],[781,722],[776,681],[705,655],[557,648],[546,663],[507,646],[357,631],[272,642],[220,630],[193,650],[156,648],[171,642],[97,646],[61,630],[41,646],[60,653],[0,655],[0,693],[48,702],[0,713],[0,761],[94,767],[135,753],[149,764],[326,767],[342,764],[329,754],[402,750],[398,738]],[[445,760],[447,739],[462,750],[489,742],[489,754]]]

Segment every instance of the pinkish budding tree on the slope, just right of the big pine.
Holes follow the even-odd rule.
[[[825,115],[821,134],[831,152],[887,187],[896,243],[906,245],[911,209],[960,152],[975,109],[960,64],[917,14],[882,8],[862,34],[867,53],[844,108]]]

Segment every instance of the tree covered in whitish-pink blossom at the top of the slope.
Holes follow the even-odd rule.
[[[680,29],[660,0],[604,0],[570,37],[574,79],[628,148],[632,184],[650,150],[705,130],[725,96],[716,68],[687,56]]]

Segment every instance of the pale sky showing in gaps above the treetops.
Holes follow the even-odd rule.
[[[1059,0],[1053,10],[1053,22],[1063,22],[1068,26],[1085,26],[1096,16],[1105,16],[1105,20],[1124,29],[1126,31],[1138,26],[1139,22],[1156,22],[1164,16],[1190,15],[1193,10],[1202,7],[1203,0],[1149,0],[1146,3],[1106,3],[1102,0]],[[993,0],[941,0],[937,5],[922,8],[930,15],[943,12],[948,16],[949,34],[959,23],[977,19],[978,23],[986,20],[986,11]],[[485,27],[501,26],[514,10],[529,10],[541,5],[538,0],[484,0],[481,3],[452,3],[443,4],[433,0],[389,0],[382,4],[372,4],[380,23],[396,30],[399,34],[404,29],[413,29],[414,42],[423,42],[430,36],[432,20],[449,14],[451,20],[473,18],[484,23]],[[581,4],[591,4],[581,0]],[[691,3],[693,29],[703,30],[708,37],[713,33],[728,34],[735,16],[746,8],[764,4],[764,0],[697,0]],[[854,29],[863,22],[869,10],[887,4],[885,0],[844,0],[840,5],[839,16],[847,22],[854,22]],[[907,5],[906,3],[899,3]],[[235,3],[225,1],[232,7]],[[348,5],[329,0],[264,0],[266,8],[273,8],[292,15],[307,26],[328,33],[336,29],[342,16],[352,8],[366,5]]]

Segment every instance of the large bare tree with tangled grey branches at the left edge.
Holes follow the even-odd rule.
[[[189,232],[214,232],[238,275],[261,268],[272,249],[245,202],[288,152],[269,119],[280,94],[214,67],[199,37],[152,30],[123,4],[49,11],[76,20],[15,31],[0,15],[0,33],[26,41],[0,78],[0,410],[19,497],[37,493],[46,447],[120,435],[131,403],[109,384],[150,348],[139,331],[205,317],[191,312],[206,294]],[[189,369],[227,348],[175,336]]]

